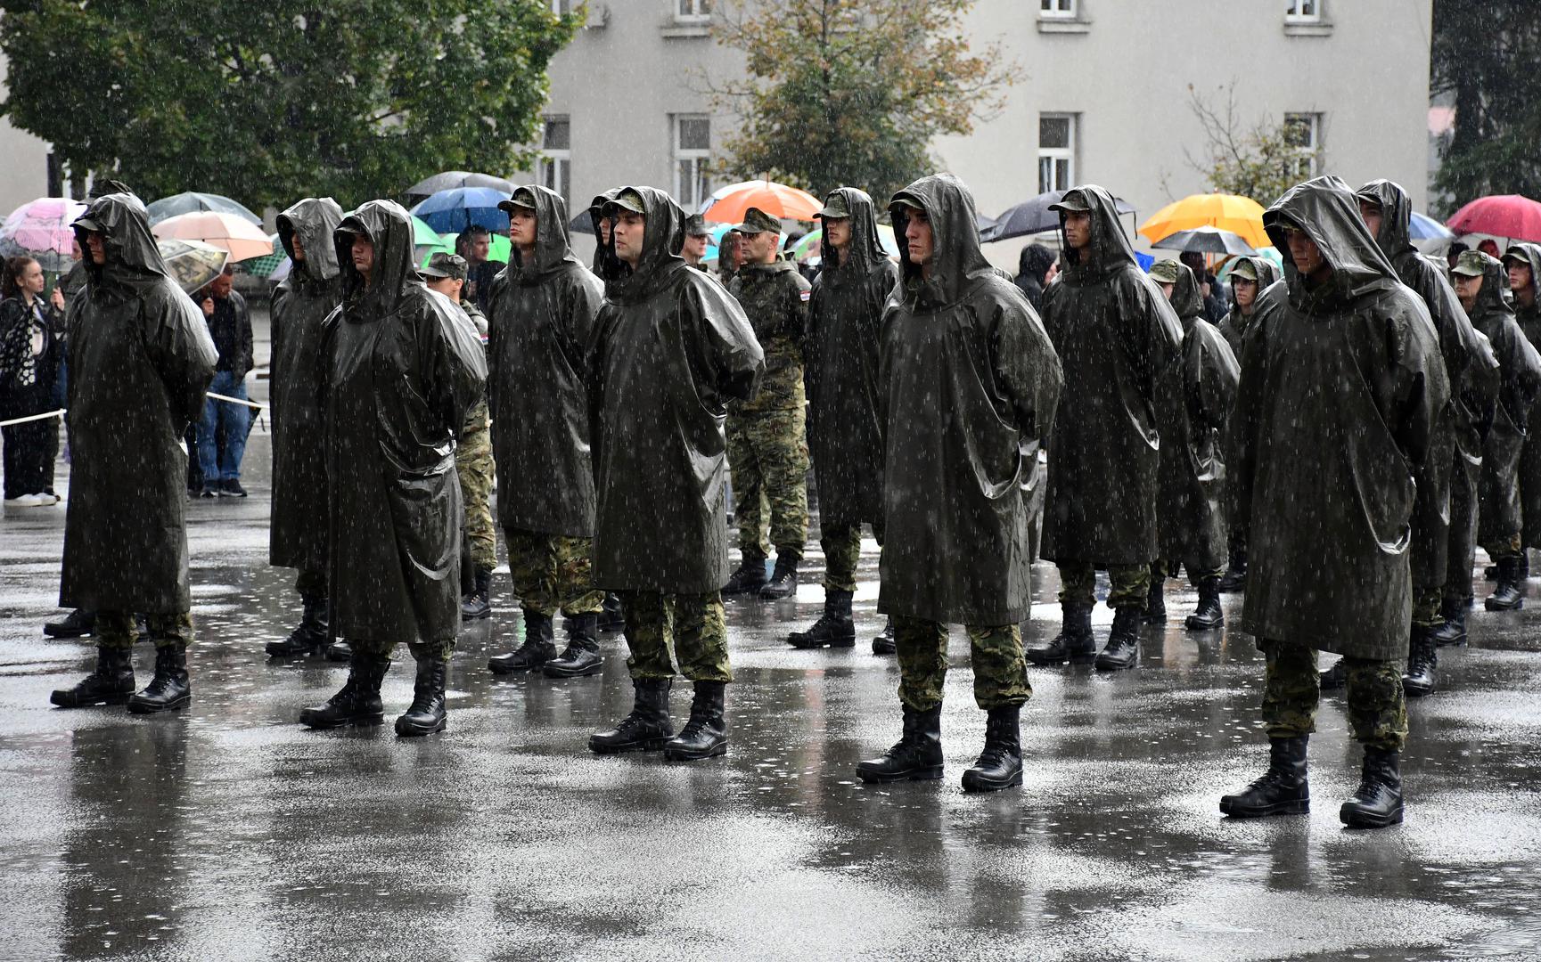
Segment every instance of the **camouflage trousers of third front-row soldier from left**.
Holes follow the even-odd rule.
[[[626,666],[633,679],[672,679],[670,654],[692,682],[732,682],[727,663],[727,614],[718,591],[660,594],[621,591],[626,610]]]

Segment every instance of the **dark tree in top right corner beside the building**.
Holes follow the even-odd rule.
[[[1455,102],[1435,192],[1541,199],[1541,17],[1533,0],[1435,0],[1432,82]]]

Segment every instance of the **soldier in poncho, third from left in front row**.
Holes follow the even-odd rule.
[[[684,211],[655,188],[624,188],[604,259],[606,302],[589,345],[595,477],[593,580],[626,610],[635,700],[589,739],[599,754],[727,751],[729,400],[755,396],[764,352],[738,302],[680,257]],[[690,720],[669,722],[673,665],[695,683]]]

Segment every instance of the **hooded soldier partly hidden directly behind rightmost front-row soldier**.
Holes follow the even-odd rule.
[[[1413,246],[1413,203],[1407,191],[1390,180],[1371,180],[1356,195],[1375,243],[1398,279],[1429,308],[1450,382],[1450,400],[1441,413],[1429,457],[1413,476],[1418,488],[1410,554],[1413,620],[1402,688],[1410,696],[1421,696],[1435,688],[1441,633],[1465,637],[1476,477],[1493,423],[1499,368],[1493,346],[1472,326],[1444,272]],[[1344,662],[1333,665],[1322,674],[1322,688],[1342,688],[1345,671]]]

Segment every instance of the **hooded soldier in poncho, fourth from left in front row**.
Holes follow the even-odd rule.
[[[905,239],[883,312],[883,522],[878,610],[894,617],[903,736],[857,765],[863,782],[942,777],[948,625],[968,630],[988,713],[968,791],[1022,783],[1019,714],[1032,697],[1020,622],[1031,611],[1023,442],[1054,425],[1060,363],[1028,299],[979,246],[974,197],[951,174],[889,205]]]

